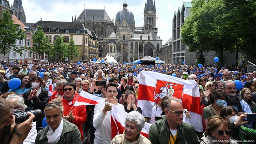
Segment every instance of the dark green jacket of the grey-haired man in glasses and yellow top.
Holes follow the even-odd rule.
[[[148,140],[152,144],[168,144],[170,138],[170,129],[167,126],[166,115],[162,115],[160,120],[150,126]],[[194,127],[189,123],[178,125],[177,139],[178,144],[199,144],[199,138],[196,135]]]

